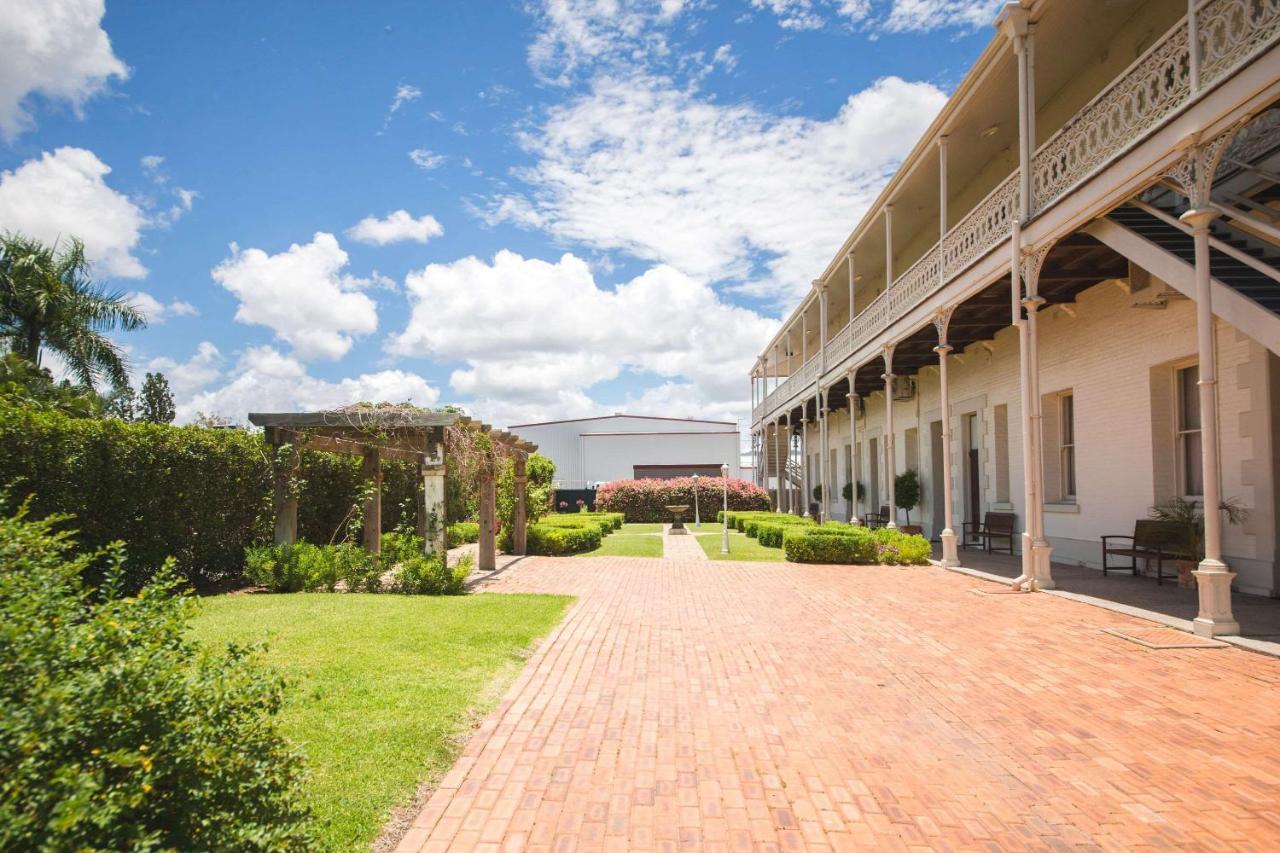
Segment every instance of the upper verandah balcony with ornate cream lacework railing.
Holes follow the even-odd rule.
[[[753,420],[1004,245],[1016,219],[1052,207],[1280,37],[1280,0],[1198,0],[1201,56],[1193,63],[1188,5],[1009,4],[1000,32],[760,353]],[[1021,41],[1011,37],[1021,33]],[[1027,50],[1034,104],[1025,117],[1015,44]],[[1020,134],[1024,118],[1029,127]],[[1025,154],[1020,138],[1034,142]],[[1028,211],[1020,210],[1020,154],[1030,163]]]

